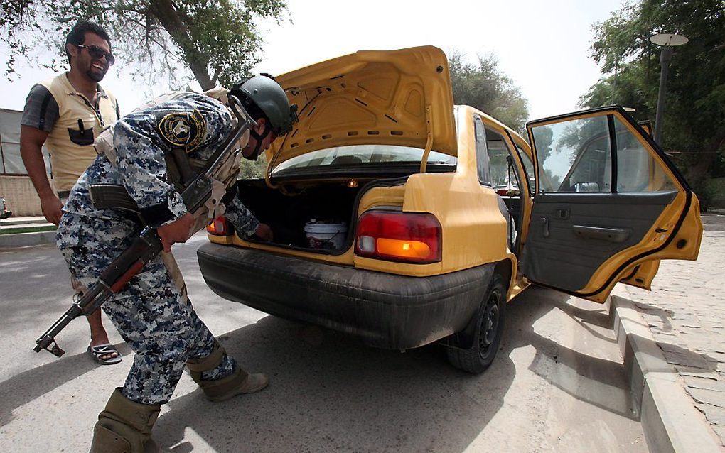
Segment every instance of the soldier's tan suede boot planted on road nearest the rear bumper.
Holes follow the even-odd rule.
[[[242,370],[239,365],[234,367],[231,375],[216,381],[202,380],[202,373],[210,371],[221,365],[226,351],[218,341],[214,343],[214,349],[207,357],[200,359],[189,359],[186,361],[189,374],[194,382],[199,384],[204,395],[209,401],[220,402],[241,394],[252,394],[260,391],[269,384],[269,378],[262,373],[249,374]]]

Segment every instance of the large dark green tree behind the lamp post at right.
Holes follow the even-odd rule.
[[[594,30],[592,58],[604,77],[579,103],[627,105],[637,109],[639,120],[653,119],[657,107],[660,48],[650,36],[689,38],[671,59],[661,145],[679,157],[676,162],[701,191],[725,155],[725,2],[641,0],[613,12]]]

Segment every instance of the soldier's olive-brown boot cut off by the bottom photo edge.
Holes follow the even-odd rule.
[[[94,427],[91,453],[158,453],[159,446],[151,439],[161,407],[157,404],[133,402],[116,388],[98,415]]]

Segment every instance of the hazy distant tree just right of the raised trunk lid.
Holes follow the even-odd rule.
[[[498,59],[478,56],[476,64],[465,61],[457,50],[450,52],[448,66],[455,104],[466,104],[486,112],[514,130],[523,132],[529,117],[529,101],[513,80],[498,69]]]

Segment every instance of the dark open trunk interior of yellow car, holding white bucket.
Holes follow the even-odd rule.
[[[330,154],[327,150],[322,152]],[[417,152],[408,162],[368,162],[329,168],[318,165],[311,171],[288,169],[284,175],[273,174],[274,188],[264,179],[238,180],[239,199],[261,223],[270,225],[274,234],[272,244],[342,254],[352,246],[360,199],[371,188],[404,186],[410,175],[420,171],[420,163],[415,159],[422,150]],[[455,171],[455,158],[447,162],[431,160],[440,156],[431,153],[427,173]],[[395,197],[385,197],[382,203],[386,208],[402,207],[402,199]]]

